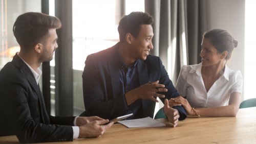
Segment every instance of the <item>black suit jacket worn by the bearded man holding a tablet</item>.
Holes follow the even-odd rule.
[[[0,136],[23,143],[73,140],[74,117],[47,114],[35,77],[17,54],[0,71],[0,94]]]

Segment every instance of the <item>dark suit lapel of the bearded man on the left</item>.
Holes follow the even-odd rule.
[[[20,69],[20,72],[22,74],[24,74],[24,76],[27,78],[29,84],[31,85],[31,87],[34,89],[34,91],[36,92],[37,94],[37,97],[38,97],[38,100],[39,100],[39,104],[40,104],[40,111],[41,111],[41,117],[42,117],[42,122],[43,123],[46,123],[45,122],[45,116],[46,116],[46,108],[45,108],[45,103],[43,101],[43,97],[42,97],[42,94],[41,94],[41,91],[40,91],[40,88],[38,87],[37,83],[36,83],[36,80],[35,80],[35,77],[32,73],[32,71],[29,69],[29,67],[27,66],[27,64],[16,54],[14,57],[13,57],[13,60],[12,60],[13,64],[18,67]],[[44,112],[45,111],[45,112]],[[45,116],[44,116],[45,115]],[[48,115],[48,114],[47,114]],[[45,118],[44,118],[45,117]],[[49,119],[49,118],[48,118]]]

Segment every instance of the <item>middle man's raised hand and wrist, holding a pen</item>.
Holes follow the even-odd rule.
[[[167,91],[167,89],[164,88],[165,86],[163,84],[158,83],[159,81],[147,83],[125,93],[127,105],[132,104],[138,99],[148,99],[158,103],[158,100],[154,97],[164,98],[165,95],[158,92]]]

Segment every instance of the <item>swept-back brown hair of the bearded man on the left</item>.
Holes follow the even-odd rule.
[[[57,17],[38,12],[19,15],[13,25],[13,34],[20,49],[30,50],[37,43],[42,43],[49,29],[59,29],[61,22]]]

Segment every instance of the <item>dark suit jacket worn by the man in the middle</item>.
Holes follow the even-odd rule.
[[[83,80],[83,100],[86,111],[81,115],[97,115],[102,118],[113,119],[117,116],[127,114],[129,108],[122,91],[120,91],[120,66],[118,59],[118,45],[109,49],[89,55],[84,67]],[[162,61],[156,56],[147,56],[145,61],[137,62],[139,84],[159,80],[164,84],[168,92],[164,92],[165,98],[175,98],[180,94],[175,89],[169,79]],[[156,103],[151,100],[141,100],[143,115],[153,118]],[[164,102],[164,99],[161,99]],[[180,120],[186,118],[186,111],[183,106],[176,106],[180,113]]]

